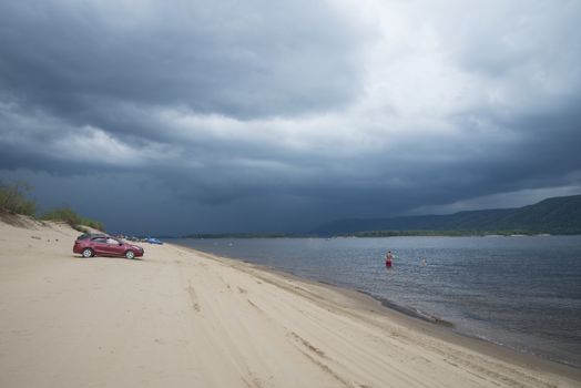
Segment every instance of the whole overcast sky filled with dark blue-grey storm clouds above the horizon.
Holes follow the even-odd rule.
[[[581,193],[578,0],[0,0],[0,178],[110,232]]]

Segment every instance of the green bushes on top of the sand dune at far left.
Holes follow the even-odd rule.
[[[0,182],[0,213],[22,214],[37,219],[65,222],[79,232],[86,232],[82,225],[99,231],[105,229],[102,222],[83,217],[68,206],[39,215],[37,201],[29,197],[31,192],[32,186],[26,182]]]

